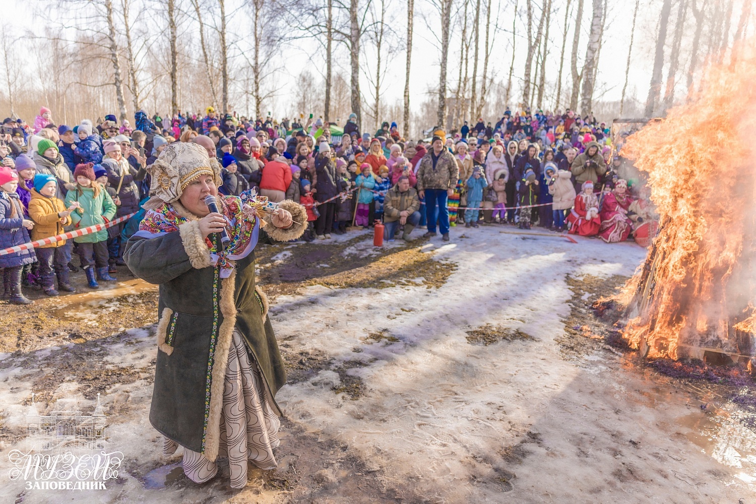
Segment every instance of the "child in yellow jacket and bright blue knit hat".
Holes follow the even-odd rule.
[[[52,175],[39,173],[34,177],[32,199],[29,201],[29,217],[34,221],[32,240],[56,237],[64,233],[64,226],[71,224],[70,214],[78,207],[73,203],[66,208],[63,201],[55,197],[57,179]],[[66,240],[43,245],[36,249],[39,261],[39,284],[47,295],[58,295],[54,278],[57,277],[57,289],[75,292],[68,281],[68,258],[64,246]]]

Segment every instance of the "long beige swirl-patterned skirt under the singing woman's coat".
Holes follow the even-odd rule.
[[[278,447],[280,420],[271,410],[257,364],[250,360],[243,336],[234,328],[228,351],[228,369],[223,388],[218,458],[228,459],[231,488],[246,485],[247,460],[261,469],[277,466],[273,449]],[[164,438],[163,453],[171,455],[178,444]],[[218,474],[218,464],[184,447],[184,474],[195,483],[205,483]]]

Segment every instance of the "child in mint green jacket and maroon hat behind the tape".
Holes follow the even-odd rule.
[[[107,190],[95,181],[93,166],[89,163],[76,165],[73,176],[76,179],[76,187],[66,194],[66,206],[71,206],[74,202],[79,203],[79,208],[71,213],[73,227],[82,229],[110,221],[116,215],[116,204]],[[99,287],[95,279],[95,267],[99,280],[116,280],[110,277],[107,271],[107,230],[85,234],[74,238],[73,241],[77,244],[76,253],[79,254],[91,289]]]

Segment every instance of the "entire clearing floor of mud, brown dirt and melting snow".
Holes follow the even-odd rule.
[[[485,232],[499,238],[493,227]],[[0,453],[23,442],[31,393],[40,410],[52,400],[78,397],[86,411],[99,393],[110,440],[125,460],[121,477],[87,502],[756,502],[756,412],[733,402],[742,382],[728,381],[726,373],[696,379],[692,368],[681,377],[668,366],[644,363],[624,347],[616,311],[596,309],[599,298],[624,283],[642,252],[628,249],[628,257],[614,258],[616,264],[627,261],[625,267],[598,264],[607,269],[600,274],[568,259],[565,264],[575,265],[565,266],[564,294],[555,294],[564,303],[555,326],[534,318],[543,303],[499,311],[499,304],[525,298],[527,285],[511,293],[499,289],[500,301],[483,300],[489,287],[471,283],[478,277],[469,271],[501,267],[504,260],[490,263],[487,245],[457,237],[451,246],[419,240],[374,249],[371,235],[352,232],[331,243],[259,250],[259,283],[271,298],[287,365],[287,387],[280,392],[287,417],[276,451],[279,467],[251,469],[243,490],[228,487],[224,466],[221,475],[197,485],[181,472],[181,450],[160,456],[160,436],[146,418],[156,286],[125,268],[110,289],[90,292],[74,274],[76,294],[33,294],[32,307],[0,304],[7,328],[0,339],[6,385]],[[527,267],[544,261],[528,247],[547,243],[553,254],[575,253],[569,244],[552,246],[546,239],[504,240],[501,256],[530,256]],[[466,264],[476,255],[483,262]],[[411,328],[415,320],[427,323],[429,309],[449,316],[426,339]],[[454,352],[467,355],[442,360],[442,367],[428,360],[426,369],[420,351],[444,356],[448,348],[438,346],[445,345],[438,339],[443,331],[454,340]],[[414,363],[401,363],[407,359]],[[549,359],[553,365],[536,373],[534,363]],[[490,360],[493,370],[482,360]],[[510,378],[494,378],[497,361],[501,369],[513,369]],[[547,378],[549,368],[556,376]],[[569,374],[569,385],[559,379]],[[399,382],[386,389],[392,376]],[[460,395],[465,382],[475,397]],[[407,402],[393,402],[392,394]],[[544,407],[525,413],[538,403]],[[466,441],[466,435],[472,438]],[[451,472],[438,472],[444,465]],[[64,502],[16,483],[3,488],[8,502]]]

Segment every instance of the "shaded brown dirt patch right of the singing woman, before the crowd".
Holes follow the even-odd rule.
[[[344,254],[346,249],[370,238],[369,234],[361,234],[339,243],[265,247],[257,255],[259,283],[271,299],[314,285],[336,289],[424,285],[432,289],[444,285],[457,268],[451,261],[436,261],[432,252],[421,252],[420,245],[427,240],[376,249],[376,254],[368,257]],[[291,255],[282,261],[271,261],[284,251]]]

